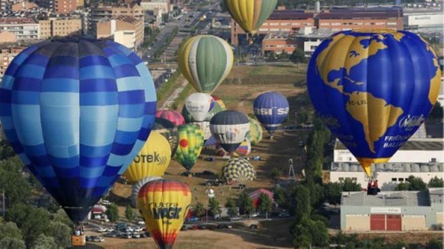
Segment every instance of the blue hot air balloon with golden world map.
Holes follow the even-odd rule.
[[[441,72],[432,48],[408,31],[354,30],[311,57],[311,102],[370,176],[415,133],[436,102]]]

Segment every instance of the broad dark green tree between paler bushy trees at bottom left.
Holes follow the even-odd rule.
[[[38,235],[46,230],[50,221],[46,210],[21,203],[7,210],[5,220],[17,224],[27,247],[34,244]]]

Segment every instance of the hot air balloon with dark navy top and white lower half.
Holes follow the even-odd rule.
[[[211,134],[226,151],[233,153],[250,130],[248,118],[238,111],[219,112],[210,121]]]

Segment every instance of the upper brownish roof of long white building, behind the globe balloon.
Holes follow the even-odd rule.
[[[335,150],[345,150],[345,145],[336,140]],[[400,150],[444,150],[444,140],[442,138],[420,138],[410,139]]]

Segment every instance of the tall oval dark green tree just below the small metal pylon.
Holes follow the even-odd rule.
[[[290,213],[295,215],[295,220],[300,221],[302,217],[309,216],[311,213],[310,192],[302,184],[293,188],[290,195]]]

